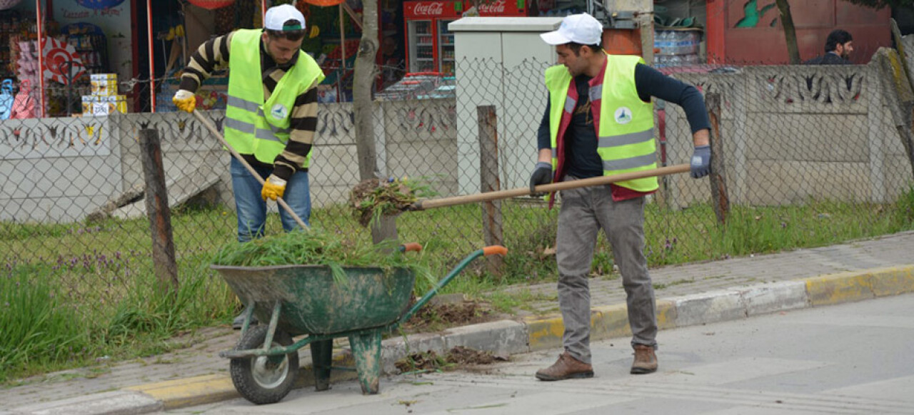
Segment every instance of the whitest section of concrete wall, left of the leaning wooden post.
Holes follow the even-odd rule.
[[[0,221],[72,222],[122,189],[106,119],[0,121]]]

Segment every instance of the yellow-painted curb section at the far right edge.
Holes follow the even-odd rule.
[[[831,306],[876,296],[896,296],[914,291],[914,265],[887,266],[866,271],[806,278],[812,306]]]

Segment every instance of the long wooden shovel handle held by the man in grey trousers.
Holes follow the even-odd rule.
[[[667,176],[670,174],[684,173],[689,171],[688,164],[676,164],[675,166],[661,167],[658,169],[644,170],[644,171],[632,171],[628,173],[612,174],[610,176],[599,176],[591,177],[589,179],[574,180],[570,182],[558,182],[558,183],[549,183],[541,184],[535,188],[535,192],[530,192],[529,187],[521,187],[517,189],[507,190],[507,191],[498,191],[498,192],[484,192],[476,194],[467,194],[465,196],[454,196],[454,197],[445,197],[441,199],[430,199],[425,201],[419,201],[413,203],[410,207],[410,211],[425,211],[428,209],[445,207],[445,206],[454,206],[457,204],[467,204],[467,203],[478,203],[478,202],[489,202],[496,201],[499,199],[508,199],[512,197],[520,196],[529,196],[534,193],[548,193],[548,192],[558,192],[565,191],[569,189],[578,189],[580,187],[587,186],[600,186],[605,184],[610,184],[614,182],[625,182],[634,179],[643,179],[645,177],[659,177]]]

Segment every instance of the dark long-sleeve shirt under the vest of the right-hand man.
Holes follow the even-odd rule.
[[[574,78],[575,87],[578,88],[578,97],[590,97],[590,77],[579,75]],[[675,78],[670,78],[660,73],[653,67],[638,64],[634,68],[634,84],[638,90],[638,97],[644,102],[650,102],[651,97],[663,99],[679,105],[685,110],[692,132],[710,129],[711,122],[707,118],[705,100],[695,87]],[[605,87],[604,87],[605,88]],[[537,149],[551,149],[549,137],[549,101],[546,104],[546,113],[539,123],[537,131]],[[590,113],[590,99],[578,99],[578,104],[572,112],[569,129],[565,132],[565,161],[568,166],[566,172],[579,179],[603,175],[603,162],[597,153],[597,131],[593,127],[593,117]]]

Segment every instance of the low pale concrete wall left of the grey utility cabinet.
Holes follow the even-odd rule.
[[[223,111],[204,114],[221,130]],[[441,195],[456,192],[453,99],[377,103],[382,175],[427,176]],[[352,104],[322,105],[310,169],[312,202],[348,201],[358,182]],[[69,223],[143,183],[139,130],[159,131],[169,201],[213,186],[212,202],[234,206],[228,151],[185,113],[0,121],[0,221]],[[118,216],[143,214],[143,202]]]

